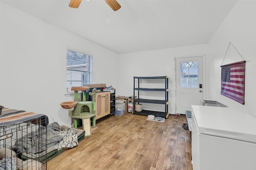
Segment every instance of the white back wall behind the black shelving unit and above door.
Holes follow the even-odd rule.
[[[118,90],[116,95],[133,96],[134,76],[169,76],[169,108],[175,114],[175,61],[178,56],[206,54],[207,44],[120,54],[118,57]],[[157,86],[155,88],[158,88]],[[144,104],[143,104],[144,105]],[[159,106],[159,105],[158,105]],[[161,106],[160,106],[161,107]],[[159,110],[162,111],[162,110]]]

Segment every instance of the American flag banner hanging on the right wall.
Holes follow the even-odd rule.
[[[221,92],[237,102],[244,104],[244,78],[246,61],[226,64],[221,67]]]

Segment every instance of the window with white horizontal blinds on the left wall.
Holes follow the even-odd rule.
[[[72,86],[92,84],[92,56],[67,50],[67,92]]]

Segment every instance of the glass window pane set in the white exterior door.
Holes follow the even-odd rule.
[[[180,87],[198,88],[198,62],[180,63]]]

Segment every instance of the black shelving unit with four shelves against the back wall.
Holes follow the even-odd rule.
[[[138,81],[136,81],[136,79]],[[140,79],[164,79],[165,83],[165,88],[141,88],[140,87]],[[154,115],[154,116],[159,116],[162,118],[168,118],[169,113],[168,113],[168,76],[156,76],[156,77],[133,77],[133,96],[134,96],[134,106],[133,106],[133,114],[140,114],[144,116],[148,115]],[[137,84],[138,86],[136,86]],[[135,91],[138,91],[138,98],[135,99]],[[164,92],[164,100],[152,100],[152,99],[142,99],[140,98],[140,92],[141,91],[162,91]],[[136,112],[135,111],[135,105],[136,103],[154,103],[154,104],[164,104],[165,111],[164,112],[158,112],[158,111],[153,111],[153,110],[142,110],[142,112]]]

